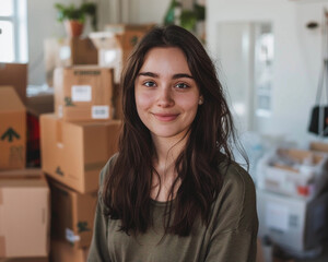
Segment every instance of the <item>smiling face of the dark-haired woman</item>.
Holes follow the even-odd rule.
[[[134,96],[138,115],[153,139],[183,138],[202,99],[184,52],[176,47],[149,50]]]

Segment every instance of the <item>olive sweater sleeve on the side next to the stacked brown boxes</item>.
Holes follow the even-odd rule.
[[[99,191],[98,202],[94,218],[93,237],[89,249],[87,262],[110,262],[109,252],[107,248],[107,223],[108,218],[104,215],[104,204],[102,202],[102,187],[104,178],[108,172],[109,160],[102,169],[99,176]]]

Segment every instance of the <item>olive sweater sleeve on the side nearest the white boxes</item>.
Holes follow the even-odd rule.
[[[213,210],[206,262],[256,261],[258,217],[254,182],[242,167],[232,169]]]

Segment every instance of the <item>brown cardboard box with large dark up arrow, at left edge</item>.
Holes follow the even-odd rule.
[[[26,110],[15,90],[0,87],[0,170],[25,168]]]

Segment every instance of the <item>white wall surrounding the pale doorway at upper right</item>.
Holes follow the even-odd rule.
[[[320,71],[321,36],[320,28],[309,31],[305,25],[309,21],[321,23],[324,7],[328,7],[327,1],[207,1],[207,40],[214,60],[220,61],[215,50],[219,23],[271,22],[273,25],[272,115],[260,119],[261,133],[286,135],[302,145],[315,139],[306,130]]]

